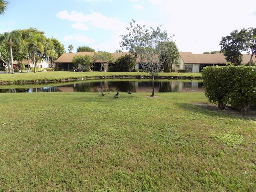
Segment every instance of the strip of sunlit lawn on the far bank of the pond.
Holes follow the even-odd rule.
[[[14,74],[0,74],[0,83],[15,83],[15,82],[36,82],[36,81],[60,81],[60,80],[82,80],[98,77],[130,77],[130,76],[150,76],[150,74],[145,72],[22,72]],[[202,77],[201,73],[159,73],[159,76],[165,77],[184,77],[184,78],[194,78]]]

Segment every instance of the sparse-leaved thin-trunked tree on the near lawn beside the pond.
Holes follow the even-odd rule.
[[[122,49],[135,53],[140,60],[142,71],[152,76],[152,94],[154,96],[154,76],[158,75],[162,68],[162,64],[168,61],[168,46],[166,42],[170,42],[170,38],[166,31],[145,25],[140,26],[136,21],[132,20],[129,31],[126,35],[121,35],[122,41],[120,46]]]

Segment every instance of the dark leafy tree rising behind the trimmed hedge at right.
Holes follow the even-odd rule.
[[[246,29],[234,30],[230,35],[222,37],[221,50],[226,56],[226,61],[239,65],[242,62],[242,51],[246,51],[248,33]]]

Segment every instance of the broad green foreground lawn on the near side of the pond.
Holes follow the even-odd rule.
[[[0,96],[0,191],[256,189],[256,119],[204,93]]]

